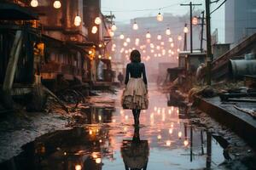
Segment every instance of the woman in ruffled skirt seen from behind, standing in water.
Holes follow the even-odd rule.
[[[126,65],[122,106],[124,109],[132,110],[134,123],[139,125],[141,110],[148,109],[148,82],[145,65],[141,63],[141,54],[138,50],[131,51],[130,60],[131,63]]]

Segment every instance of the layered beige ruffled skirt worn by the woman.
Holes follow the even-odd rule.
[[[124,109],[148,109],[148,92],[142,78],[130,78],[123,91],[121,105]]]

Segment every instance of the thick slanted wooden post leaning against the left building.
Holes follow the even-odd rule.
[[[15,71],[20,55],[20,49],[22,44],[22,31],[16,31],[15,42],[11,48],[9,62],[7,65],[4,81],[3,81],[3,92],[9,92],[13,86],[15,79]]]

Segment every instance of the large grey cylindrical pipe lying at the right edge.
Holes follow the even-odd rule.
[[[256,59],[230,59],[229,69],[233,78],[256,75]]]

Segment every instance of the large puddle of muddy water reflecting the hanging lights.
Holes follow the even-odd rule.
[[[203,128],[190,125],[185,108],[167,106],[166,94],[150,90],[139,128],[132,125],[131,111],[120,108],[119,95],[116,99],[115,107],[84,109],[83,125],[24,145],[0,169],[219,169],[221,146]]]

